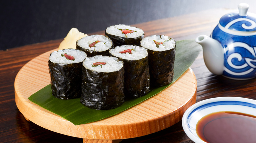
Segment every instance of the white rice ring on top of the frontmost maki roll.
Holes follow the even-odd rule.
[[[93,66],[93,63],[96,62],[106,62],[105,65],[102,66]],[[123,61],[119,61],[116,57],[112,56],[93,56],[87,57],[86,60],[83,61],[83,66],[86,69],[98,72],[113,72],[118,71],[123,67]]]

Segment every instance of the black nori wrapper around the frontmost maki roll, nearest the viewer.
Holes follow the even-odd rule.
[[[92,109],[114,109],[124,103],[124,67],[113,72],[82,68],[80,102]]]

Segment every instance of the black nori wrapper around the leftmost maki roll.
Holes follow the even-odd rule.
[[[82,62],[53,63],[48,61],[51,75],[52,94],[59,99],[73,99],[81,96]]]

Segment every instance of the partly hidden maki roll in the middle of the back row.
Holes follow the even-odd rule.
[[[103,35],[86,36],[76,41],[76,49],[84,51],[87,56],[108,56],[111,48],[112,40]]]

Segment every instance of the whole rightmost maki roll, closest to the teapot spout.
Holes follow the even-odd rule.
[[[164,35],[153,35],[143,38],[141,46],[148,49],[151,86],[170,84],[174,75],[175,40]]]

